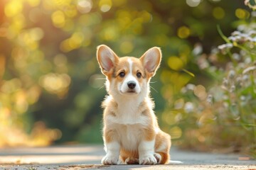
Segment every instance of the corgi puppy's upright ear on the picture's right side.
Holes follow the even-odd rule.
[[[153,77],[156,73],[156,70],[159,68],[161,62],[161,50],[159,47],[151,47],[147,50],[140,59],[146,73],[149,74],[149,77]]]

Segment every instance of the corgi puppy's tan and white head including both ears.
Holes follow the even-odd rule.
[[[113,96],[145,96],[149,93],[149,80],[161,62],[161,50],[152,47],[139,59],[117,57],[106,45],[97,47],[97,61],[107,77],[107,91]]]

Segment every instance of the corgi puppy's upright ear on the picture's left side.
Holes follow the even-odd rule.
[[[107,45],[99,45],[97,47],[97,61],[100,64],[102,73],[107,76],[112,72],[118,57]]]

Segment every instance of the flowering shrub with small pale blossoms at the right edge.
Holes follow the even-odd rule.
[[[245,4],[255,8],[250,1]],[[255,18],[252,11],[250,20],[240,21],[228,38],[218,26],[225,44],[210,55],[196,53],[198,46],[193,50],[198,67],[213,81],[205,82],[206,87],[188,84],[174,103],[173,115],[184,131],[181,147],[256,157]]]

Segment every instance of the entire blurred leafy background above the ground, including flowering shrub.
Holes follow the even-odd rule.
[[[161,47],[151,96],[174,145],[255,155],[254,10],[253,0],[1,0],[0,147],[102,143],[105,44],[136,57]]]

